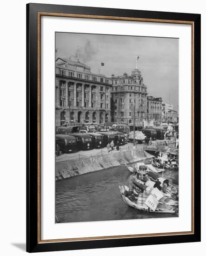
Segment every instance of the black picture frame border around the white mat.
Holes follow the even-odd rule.
[[[38,13],[70,13],[138,19],[189,21],[193,23],[193,234],[44,242],[38,238],[40,220],[38,191],[40,154],[38,137]],[[183,22],[184,23],[184,22]],[[27,4],[27,252],[123,247],[200,241],[200,14],[169,13],[97,7]]]

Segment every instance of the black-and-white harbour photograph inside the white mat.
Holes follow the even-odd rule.
[[[55,33],[55,222],[179,216],[179,39]]]

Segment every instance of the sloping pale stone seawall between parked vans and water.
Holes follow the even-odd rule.
[[[117,151],[107,155],[97,155],[83,159],[74,159],[64,162],[56,162],[55,176],[56,181],[70,178],[73,176],[86,174],[110,167],[119,166],[125,163],[141,161],[151,158],[143,148],[127,151]]]

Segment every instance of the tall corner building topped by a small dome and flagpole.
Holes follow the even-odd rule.
[[[147,88],[143,82],[140,70],[135,68],[131,75],[110,77],[111,115],[113,122],[132,124],[133,110],[135,119],[142,121],[146,118]]]

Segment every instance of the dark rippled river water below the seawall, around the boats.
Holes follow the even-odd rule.
[[[178,179],[178,172],[174,170],[165,171],[164,175]],[[127,185],[130,177],[126,167],[119,166],[56,182],[56,216],[59,222],[178,216],[147,213],[128,207],[120,196],[119,184]]]

